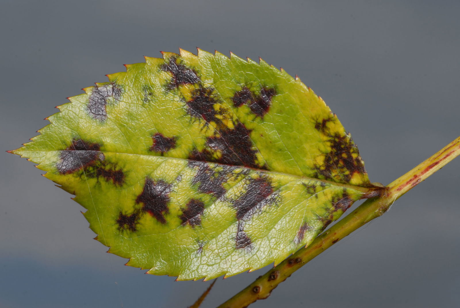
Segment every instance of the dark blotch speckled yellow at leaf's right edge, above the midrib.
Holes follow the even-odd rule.
[[[326,136],[325,143],[331,149],[320,155],[322,163],[315,165],[315,177],[349,183],[353,174],[366,174],[366,169],[350,134],[339,134],[329,128],[328,123],[336,121],[331,115],[315,123],[316,130]]]

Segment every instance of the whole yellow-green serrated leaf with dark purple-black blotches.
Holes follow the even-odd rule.
[[[277,264],[375,190],[297,76],[202,50],[145,59],[12,151],[75,194],[127,265],[185,280]]]

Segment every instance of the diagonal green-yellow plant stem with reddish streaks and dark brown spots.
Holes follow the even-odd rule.
[[[357,209],[346,215],[334,226],[320,234],[308,246],[301,248],[276,267],[260,276],[252,284],[224,302],[219,308],[247,307],[258,299],[270,296],[271,291],[292,273],[311,261],[340,239],[362,227],[369,221],[383,215],[391,204],[428,176],[441,169],[460,154],[460,137],[446,145],[442,150],[420,163],[408,173],[391,182],[381,197],[366,200]]]

